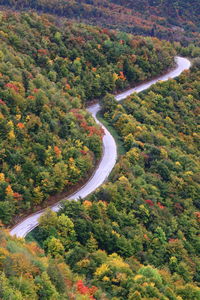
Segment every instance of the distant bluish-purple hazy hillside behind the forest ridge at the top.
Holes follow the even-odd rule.
[[[199,0],[0,0],[0,4],[184,44],[200,40]]]

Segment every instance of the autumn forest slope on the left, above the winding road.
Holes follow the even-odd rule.
[[[108,91],[172,66],[168,42],[36,14],[0,15],[0,219],[86,179],[102,130],[84,110]]]

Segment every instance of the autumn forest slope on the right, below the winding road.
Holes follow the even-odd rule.
[[[123,104],[107,95],[104,118],[126,154],[108,183],[47,211],[33,232],[108,299],[200,298],[199,78],[193,67]]]

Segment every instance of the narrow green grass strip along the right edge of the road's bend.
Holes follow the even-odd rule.
[[[112,134],[117,144],[117,154],[124,155],[126,153],[126,149],[124,148],[124,143],[122,138],[117,133],[116,129],[103,118],[101,111],[97,113],[97,119],[108,129],[108,131]]]

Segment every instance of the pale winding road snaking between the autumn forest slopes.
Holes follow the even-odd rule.
[[[123,92],[117,95],[115,98],[117,101],[123,100],[126,97],[130,96],[134,92],[141,92],[148,89],[152,84],[157,81],[166,81],[170,78],[175,78],[179,76],[184,70],[188,70],[191,66],[191,63],[188,59],[182,57],[175,57],[176,68],[172,71],[169,71],[167,74],[158,77],[157,79],[153,79],[148,81],[147,83],[142,83],[135,88],[129,89],[126,92]],[[100,110],[99,104],[94,104],[88,108],[88,111],[92,114],[95,121],[102,126],[104,129],[105,135],[103,137],[103,155],[102,159],[95,170],[93,176],[88,180],[88,182],[81,187],[77,192],[68,196],[66,199],[75,199],[78,200],[80,197],[85,198],[93,191],[95,191],[108,177],[110,172],[112,171],[116,160],[117,160],[117,146],[114,138],[110,134],[110,132],[101,124],[97,118],[96,114]],[[51,206],[53,211],[58,211],[60,208],[60,202]],[[16,235],[17,237],[25,237],[31,230],[38,226],[38,219],[44,213],[44,210],[41,210],[37,213],[30,215],[25,218],[15,227],[10,230],[10,234],[12,236]]]

